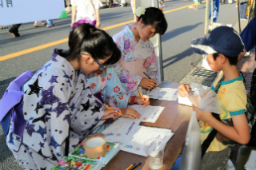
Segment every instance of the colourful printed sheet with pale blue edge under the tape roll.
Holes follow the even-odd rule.
[[[85,141],[82,141],[81,144],[78,144],[78,146],[74,148],[74,151],[70,152],[69,156],[96,161],[100,164],[107,164],[120,150],[118,143],[106,142],[106,154],[104,156],[93,159],[86,156],[85,148],[83,146],[84,143]]]

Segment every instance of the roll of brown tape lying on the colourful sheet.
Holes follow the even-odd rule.
[[[106,154],[106,139],[102,136],[95,136],[85,141],[84,148],[86,156],[98,158]]]

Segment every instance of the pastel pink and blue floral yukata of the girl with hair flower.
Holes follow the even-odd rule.
[[[121,59],[113,65],[114,69],[117,71],[126,93],[133,93],[139,97],[138,86],[143,77],[147,78],[143,72],[153,80],[158,81],[154,45],[150,40],[143,42],[140,39],[139,42],[136,42],[128,25],[121,32],[115,34],[113,40],[122,52]],[[145,94],[146,90],[143,91]]]

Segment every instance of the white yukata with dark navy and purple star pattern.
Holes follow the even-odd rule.
[[[12,132],[6,143],[25,169],[50,169],[83,140],[103,116],[103,107],[86,82],[86,74],[75,71],[64,57],[52,54],[23,86],[23,136]]]

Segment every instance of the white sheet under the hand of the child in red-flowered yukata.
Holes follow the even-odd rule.
[[[135,109],[138,113],[142,115],[142,122],[151,123],[155,123],[158,120],[158,117],[162,113],[163,109],[165,109],[165,107],[151,105],[148,105],[146,107],[142,105],[132,105],[131,108]]]

